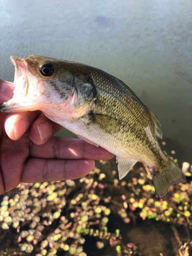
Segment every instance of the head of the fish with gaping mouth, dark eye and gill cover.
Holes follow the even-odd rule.
[[[39,55],[11,56],[11,61],[15,90],[13,98],[0,105],[1,112],[40,110],[48,116],[77,118],[93,106],[93,84],[79,72],[78,63]]]

